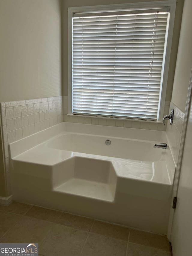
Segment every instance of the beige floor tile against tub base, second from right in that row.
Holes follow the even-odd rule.
[[[91,231],[93,233],[98,233],[104,236],[109,236],[116,239],[121,239],[128,241],[129,229],[127,227],[122,227],[118,225],[113,225],[110,223],[102,221],[94,221]]]

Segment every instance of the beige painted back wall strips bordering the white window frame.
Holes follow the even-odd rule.
[[[64,95],[68,94],[68,7],[76,7],[76,6],[91,6],[91,5],[111,5],[111,4],[123,4],[123,3],[132,3],[132,2],[149,2],[150,0],[63,0],[62,12],[63,12],[63,33],[62,33],[62,47],[63,47],[63,68],[62,68],[62,77],[63,77],[63,93]],[[154,0],[151,0],[154,1]],[[158,0],[156,0],[158,1]],[[179,42],[179,33],[181,26],[181,18],[182,18],[182,9],[183,9],[184,0],[177,1],[176,7],[176,18],[174,24],[174,32],[173,32],[173,43],[171,50],[171,59],[170,59],[170,68],[169,68],[169,76],[168,76],[168,85],[167,85],[167,94],[166,101],[171,100],[172,88],[173,88],[173,79],[174,79],[174,71],[177,57],[177,48]]]

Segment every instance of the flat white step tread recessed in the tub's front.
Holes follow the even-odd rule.
[[[54,191],[90,197],[104,201],[114,201],[110,185],[85,179],[70,179],[54,189]]]

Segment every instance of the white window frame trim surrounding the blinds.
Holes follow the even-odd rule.
[[[105,10],[120,10],[120,9],[131,9],[131,8],[158,8],[158,7],[170,7],[170,13],[167,18],[167,33],[165,35],[165,46],[162,65],[162,75],[161,75],[161,86],[159,93],[159,104],[158,104],[158,116],[157,121],[134,119],[134,121],[143,122],[157,122],[162,123],[164,116],[165,98],[167,91],[167,80],[170,65],[172,38],[173,38],[173,27],[175,20],[176,11],[176,0],[166,0],[166,1],[154,1],[154,2],[143,2],[143,3],[129,3],[129,4],[115,4],[115,5],[95,5],[95,6],[82,6],[82,7],[70,7],[68,8],[68,115],[72,116],[89,116],[89,115],[77,115],[72,113],[72,18],[74,12],[86,12],[86,11],[105,11]],[[168,113],[167,113],[168,114]],[[90,117],[94,117],[91,116]],[[95,116],[103,118],[103,116]],[[113,119],[122,119],[121,117],[104,117]],[[133,118],[123,118],[132,119]]]

